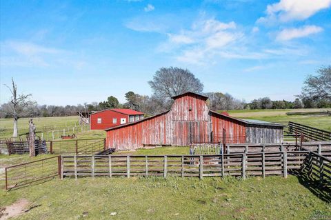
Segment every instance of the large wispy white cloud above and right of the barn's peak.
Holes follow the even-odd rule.
[[[162,49],[164,52],[179,50],[176,52],[178,61],[203,64],[241,37],[243,33],[237,30],[234,21],[223,23],[216,19],[202,19],[188,30],[168,34],[168,43],[164,43]]]

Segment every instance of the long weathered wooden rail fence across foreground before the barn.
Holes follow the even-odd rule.
[[[64,177],[225,177],[282,175],[299,170],[308,151],[218,155],[61,156]]]

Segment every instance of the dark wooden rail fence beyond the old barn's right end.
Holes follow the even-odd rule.
[[[292,121],[288,122],[289,132],[292,134],[303,134],[305,138],[314,141],[330,141],[331,132],[327,130],[321,130],[310,126],[305,126],[300,123]]]

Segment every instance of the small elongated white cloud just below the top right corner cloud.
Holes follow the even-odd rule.
[[[317,34],[323,31],[319,26],[304,26],[302,28],[284,29],[277,34],[277,41],[290,41],[301,37],[307,37],[310,34]]]

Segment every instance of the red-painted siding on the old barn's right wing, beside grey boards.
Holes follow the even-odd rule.
[[[246,128],[244,122],[215,112],[210,112],[210,120],[212,121],[212,132],[215,140],[221,139],[223,129],[225,129],[225,135],[229,137],[229,143],[245,139]]]

